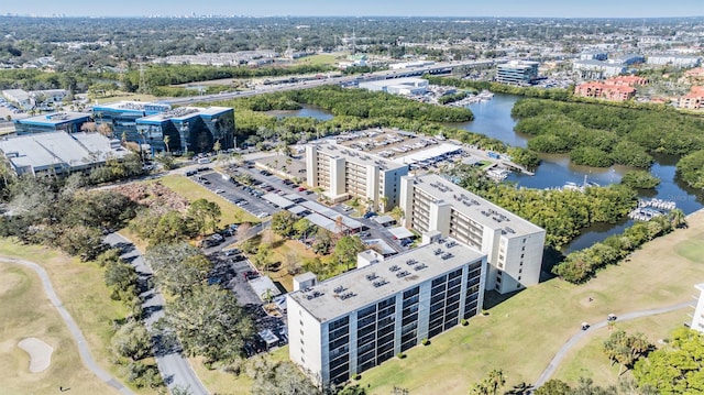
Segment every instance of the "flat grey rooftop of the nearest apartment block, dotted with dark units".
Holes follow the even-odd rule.
[[[485,256],[477,250],[448,238],[442,243],[419,246],[380,263],[340,274],[310,288],[293,292],[288,296],[318,321],[324,322]]]

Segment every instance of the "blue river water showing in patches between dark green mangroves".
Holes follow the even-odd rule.
[[[492,136],[508,145],[525,147],[529,136],[514,131],[516,121],[510,117],[510,110],[519,99],[520,97],[518,96],[497,94],[492,100],[470,105],[470,109],[474,112],[474,120],[457,123],[453,127]],[[332,118],[324,110],[309,107],[296,111],[276,111],[272,114],[278,117],[312,117],[320,120]],[[607,168],[575,166],[570,164],[568,155],[540,155],[540,158],[542,162],[536,169],[535,176],[514,173],[507,180],[528,188],[561,187],[565,183],[582,184],[585,179],[605,186],[619,183],[624,173],[628,171],[628,167],[624,166]],[[704,194],[689,188],[676,177],[676,156],[654,155],[654,160],[656,162],[651,166],[650,173],[660,178],[660,185],[654,190],[641,190],[639,193],[640,197],[675,201],[678,208],[688,215],[704,207]],[[563,253],[587,248],[612,234],[622,232],[632,223],[632,220],[624,218],[617,223],[598,223],[586,228],[563,249]]]

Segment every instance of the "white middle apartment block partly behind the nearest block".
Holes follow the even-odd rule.
[[[440,231],[488,255],[486,288],[501,294],[538,284],[544,229],[436,174],[402,178],[405,226]]]

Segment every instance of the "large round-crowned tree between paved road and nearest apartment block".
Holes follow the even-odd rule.
[[[215,286],[196,285],[188,297],[178,297],[166,310],[187,355],[207,363],[229,362],[242,355],[244,342],[254,334],[251,317],[233,294]]]

